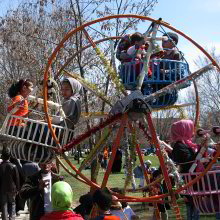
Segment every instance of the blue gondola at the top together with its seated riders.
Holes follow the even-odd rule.
[[[145,41],[143,41],[144,39]],[[125,35],[119,42],[116,58],[121,62],[120,78],[127,90],[135,90],[139,80],[138,76],[141,71],[145,72],[141,90],[147,96],[188,76],[189,66],[182,54],[176,49],[177,34],[165,33],[161,38],[163,48],[152,44],[152,40],[146,41],[146,39],[144,34],[138,32]],[[149,50],[150,44],[152,47]],[[148,68],[144,69],[144,64],[148,64]],[[184,87],[187,86],[189,84]],[[177,98],[178,92],[173,89],[148,104],[152,108],[163,108],[173,105]]]

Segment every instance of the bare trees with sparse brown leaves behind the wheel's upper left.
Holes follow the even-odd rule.
[[[16,10],[9,11],[0,22],[2,104],[6,103],[5,91],[14,80],[28,77],[38,83],[48,57],[69,30],[107,15],[127,13],[149,15],[156,3],[157,0],[86,0],[83,2],[29,0],[20,4]],[[133,18],[112,19],[77,32],[59,51],[52,65],[52,75],[59,72],[68,58],[76,54],[65,70],[89,79],[98,90],[112,97],[114,103],[121,94],[115,96],[115,86],[111,83],[111,78],[95,51],[92,48],[81,51],[89,43],[85,31],[95,41],[105,36],[122,36],[129,31],[136,31],[140,22],[140,19]],[[117,44],[118,40],[114,41],[114,49]],[[102,43],[99,47],[105,57],[111,60],[109,44]],[[90,96],[92,94],[84,90],[85,112],[106,111],[105,102],[101,103],[96,99],[94,105],[93,102],[89,102]],[[88,121],[87,129],[90,129],[91,123],[95,122]],[[92,144],[90,141],[91,147]]]

